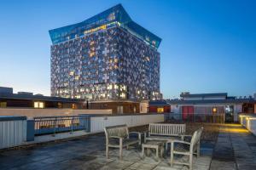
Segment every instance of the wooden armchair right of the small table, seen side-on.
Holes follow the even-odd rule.
[[[196,154],[197,156],[200,156],[200,138],[201,138],[202,131],[203,131],[203,127],[196,130],[190,142],[186,142],[182,140],[173,140],[171,142],[171,167],[174,163],[176,163],[176,164],[187,165],[189,166],[189,170],[192,170],[193,155]],[[174,161],[174,155],[189,156],[189,163]]]

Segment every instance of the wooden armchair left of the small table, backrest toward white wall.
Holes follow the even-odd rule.
[[[129,148],[131,144],[141,144],[141,133],[130,132],[127,125],[104,127],[106,136],[106,157],[108,148],[119,148],[119,159],[122,159],[123,147]],[[130,138],[130,134],[137,134],[137,139]]]

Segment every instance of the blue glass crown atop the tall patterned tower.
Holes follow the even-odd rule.
[[[118,26],[121,26],[126,31],[131,32],[131,34],[142,39],[144,42],[154,46],[154,48],[158,48],[160,46],[160,37],[155,36],[152,32],[131,20],[131,17],[126,13],[125,8],[123,8],[121,4],[108,8],[88,20],[50,30],[49,36],[51,37],[53,44],[56,44],[76,37],[83,37],[87,33],[91,33],[93,30],[97,31],[104,28],[106,29],[106,25],[111,23],[116,23]]]

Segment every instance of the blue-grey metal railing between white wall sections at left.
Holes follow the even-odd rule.
[[[34,117],[35,135],[85,130],[90,132],[90,116]]]

